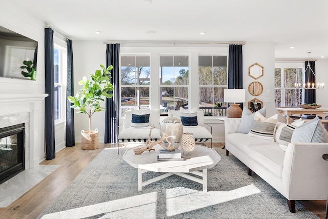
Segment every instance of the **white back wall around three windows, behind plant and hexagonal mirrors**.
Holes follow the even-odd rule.
[[[120,45],[120,54],[147,54],[151,56],[152,77],[151,85],[158,84],[159,69],[154,68],[158,66],[160,54],[185,54],[189,55],[190,69],[189,75],[192,78],[190,93],[192,96],[198,97],[198,55],[228,55],[228,45],[211,46],[211,47],[190,47],[179,45],[155,45],[142,47],[140,45]],[[77,82],[88,73],[93,73],[99,69],[100,64],[105,65],[106,44],[95,41],[75,41],[73,42],[74,54],[74,92],[80,86]],[[255,81],[248,76],[248,67],[254,63],[259,63],[264,67],[264,76],[259,78],[263,84],[264,91],[257,98],[264,100],[264,97],[269,97],[271,102],[264,103],[267,106],[268,115],[274,114],[274,44],[273,43],[247,43],[243,46],[243,86],[247,89],[247,102],[254,98],[248,93],[248,85]],[[154,75],[154,76],[153,76]],[[193,89],[197,88],[197,89]],[[270,93],[267,91],[270,90]],[[151,87],[151,94],[159,96],[158,86]],[[247,102],[245,103],[247,105]],[[190,99],[190,108],[198,107],[198,98]],[[151,109],[158,109],[159,98],[153,99],[150,103]],[[217,118],[206,117],[206,122],[209,123],[213,130],[213,142],[224,142],[224,123],[218,121]],[[80,141],[80,131],[88,128],[88,117],[84,114],[75,113],[75,140]],[[98,128],[99,141],[104,141],[105,132],[105,113],[96,113],[92,117],[91,129]]]

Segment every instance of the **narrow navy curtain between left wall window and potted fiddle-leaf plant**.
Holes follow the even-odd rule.
[[[74,96],[74,79],[73,79],[73,42],[67,40],[67,88],[66,88],[66,146],[75,145],[74,136],[74,109],[73,105],[67,99],[68,96]]]

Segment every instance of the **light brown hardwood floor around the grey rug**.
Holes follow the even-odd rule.
[[[213,143],[213,147],[222,146],[222,143]],[[96,150],[81,150],[79,143],[77,143],[75,147],[65,148],[56,153],[55,159],[41,162],[40,165],[60,165],[60,167],[11,205],[0,208],[0,218],[36,218],[106,147],[116,147],[116,145],[99,144],[99,148]],[[319,218],[324,218],[325,201],[299,202]]]

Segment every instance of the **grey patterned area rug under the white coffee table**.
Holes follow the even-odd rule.
[[[101,151],[38,218],[317,218],[298,202],[291,213],[279,192],[221,148],[221,161],[208,170],[208,192],[177,175],[138,192],[125,150]],[[148,172],[143,181],[158,174]]]

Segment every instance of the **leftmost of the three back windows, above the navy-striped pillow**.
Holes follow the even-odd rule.
[[[121,113],[149,108],[150,56],[121,56]]]

